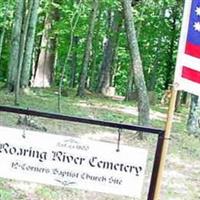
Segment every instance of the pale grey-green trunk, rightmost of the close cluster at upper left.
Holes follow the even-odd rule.
[[[30,81],[30,72],[32,66],[32,55],[33,55],[33,46],[35,41],[38,8],[39,8],[39,0],[34,0],[31,8],[31,16],[28,27],[25,55],[24,55],[22,74],[21,74],[21,86],[23,88],[28,87]]]

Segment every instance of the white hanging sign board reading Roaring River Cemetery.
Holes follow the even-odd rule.
[[[0,127],[0,176],[140,197],[147,151]]]

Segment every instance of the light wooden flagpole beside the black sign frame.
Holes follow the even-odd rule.
[[[154,191],[153,200],[160,199],[161,182],[162,182],[164,166],[165,166],[165,162],[167,158],[167,151],[168,151],[168,146],[169,146],[174,110],[175,110],[175,105],[176,105],[176,98],[177,98],[177,90],[175,86],[172,86],[171,98],[170,98],[170,104],[169,104],[168,113],[167,113],[167,121],[165,124],[165,133],[164,133],[164,138],[163,138],[164,140],[163,140],[163,146],[162,146],[162,151],[161,151],[160,163],[158,166],[158,175],[155,182],[155,191]]]

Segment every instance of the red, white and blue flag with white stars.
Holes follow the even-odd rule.
[[[200,0],[185,0],[174,82],[178,89],[200,95]]]

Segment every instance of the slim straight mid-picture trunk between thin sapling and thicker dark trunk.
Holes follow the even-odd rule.
[[[89,18],[90,23],[89,23],[86,47],[85,47],[83,63],[82,63],[80,83],[79,83],[79,87],[77,91],[77,95],[80,97],[85,95],[85,85],[86,85],[86,80],[87,80],[88,66],[89,66],[89,61],[90,61],[90,52],[92,48],[92,39],[93,39],[93,34],[94,34],[95,21],[96,21],[96,17],[98,13],[98,6],[99,6],[99,0],[93,0],[92,12]]]

